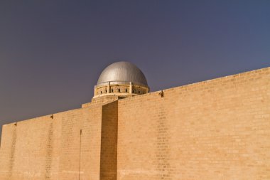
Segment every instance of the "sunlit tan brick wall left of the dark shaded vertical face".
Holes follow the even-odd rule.
[[[0,179],[99,179],[101,127],[102,106],[4,125]]]

